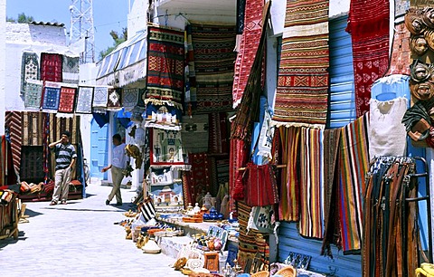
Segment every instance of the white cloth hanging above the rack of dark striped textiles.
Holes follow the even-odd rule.
[[[401,119],[407,106],[405,98],[388,101],[371,99],[368,130],[370,157],[405,155],[407,132]]]

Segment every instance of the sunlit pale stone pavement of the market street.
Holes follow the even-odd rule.
[[[17,241],[0,241],[0,276],[184,276],[163,253],[147,254],[125,239],[117,223],[136,193],[122,189],[124,205],[105,205],[110,186],[90,185],[88,197],[68,205],[26,203],[29,223]],[[116,201],[113,200],[114,204]]]

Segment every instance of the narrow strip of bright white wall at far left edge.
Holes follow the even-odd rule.
[[[5,135],[6,1],[0,1],[0,136]]]

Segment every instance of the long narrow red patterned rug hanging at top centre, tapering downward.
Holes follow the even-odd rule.
[[[235,75],[233,78],[233,108],[236,108],[241,102],[242,93],[249,80],[250,69],[255,60],[256,52],[258,51],[263,24],[263,8],[264,0],[245,1],[244,30],[241,35],[241,44],[237,54],[237,60],[235,61]]]

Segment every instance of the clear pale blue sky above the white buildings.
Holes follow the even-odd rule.
[[[18,14],[24,13],[33,16],[35,21],[62,23],[69,36],[71,4],[72,0],[6,0],[6,16],[16,19]],[[99,52],[113,45],[110,31],[121,33],[122,28],[127,27],[127,14],[128,0],[93,0],[96,60]]]

